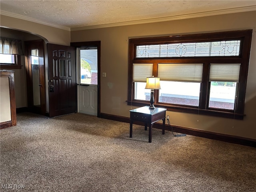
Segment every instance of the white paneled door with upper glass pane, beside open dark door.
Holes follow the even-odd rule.
[[[97,47],[77,48],[78,112],[97,115],[98,103],[98,50]]]

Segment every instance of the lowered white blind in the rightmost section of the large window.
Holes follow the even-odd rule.
[[[238,82],[240,64],[210,64],[209,81]]]

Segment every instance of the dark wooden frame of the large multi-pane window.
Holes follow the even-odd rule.
[[[168,43],[188,43],[188,42],[205,42],[219,40],[241,40],[239,56],[197,56],[197,57],[161,57],[161,58],[136,58],[136,46],[149,44],[168,44]],[[166,104],[158,102],[159,91],[155,90],[154,105],[157,107],[167,108],[168,111],[185,112],[193,114],[203,114],[210,116],[221,116],[225,118],[243,119],[244,101],[246,94],[246,82],[248,76],[248,66],[250,58],[250,47],[252,42],[252,29],[214,32],[204,34],[187,34],[177,36],[149,37],[149,38],[131,38],[129,39],[129,69],[128,69],[128,105],[145,106],[149,102],[145,100],[134,99],[134,82],[132,81],[134,63],[152,63],[152,75],[157,76],[158,63],[203,63],[202,83],[200,88],[199,106],[186,106],[177,104]],[[210,94],[210,64],[213,63],[240,63],[240,76],[237,84],[236,104],[234,110],[225,110],[218,108],[209,108]]]

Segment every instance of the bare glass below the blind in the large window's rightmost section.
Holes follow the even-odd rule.
[[[234,110],[236,82],[211,82],[209,108]]]

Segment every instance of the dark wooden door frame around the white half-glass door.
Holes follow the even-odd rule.
[[[101,42],[100,41],[87,41],[87,42],[71,42],[70,46],[75,47],[76,48],[83,48],[83,47],[87,47],[87,46],[96,46],[97,47],[97,52],[98,52],[98,85],[97,85],[97,117],[100,117],[100,74],[101,74],[101,70],[100,70],[100,56],[101,56]],[[76,53],[77,54],[77,53]]]

